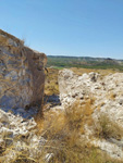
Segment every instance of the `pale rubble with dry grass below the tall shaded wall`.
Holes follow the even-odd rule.
[[[34,118],[24,120],[0,110],[0,162],[11,163],[24,156],[28,162],[39,159],[46,140],[37,136]],[[24,161],[26,162],[26,161]]]

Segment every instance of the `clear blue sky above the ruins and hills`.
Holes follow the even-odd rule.
[[[123,59],[123,0],[0,0],[0,28],[46,54]]]

